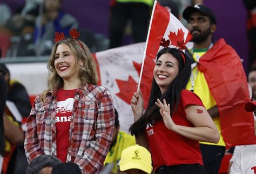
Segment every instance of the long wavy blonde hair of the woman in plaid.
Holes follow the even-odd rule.
[[[43,91],[41,99],[43,102],[46,100],[46,93],[51,90],[58,90],[63,88],[63,78],[57,74],[57,71],[54,66],[55,62],[55,53],[57,47],[60,44],[67,45],[72,54],[76,57],[76,66],[79,68],[79,79],[83,85],[86,83],[97,84],[98,83],[98,73],[96,68],[96,62],[92,57],[92,54],[89,48],[84,44],[84,42],[75,39],[64,39],[59,40],[52,46],[50,60],[48,61],[47,68],[50,71],[48,76],[48,89]],[[81,63],[82,62],[82,63]],[[83,66],[81,66],[83,64]]]

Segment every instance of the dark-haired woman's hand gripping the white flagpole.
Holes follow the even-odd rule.
[[[142,97],[142,91],[134,92],[132,99],[131,99],[131,107],[132,112],[134,115],[134,122],[137,121],[140,117],[143,115],[143,97]]]

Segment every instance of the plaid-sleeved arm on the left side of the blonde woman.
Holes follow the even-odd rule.
[[[36,100],[39,100],[39,96],[37,96]],[[33,103],[30,115],[26,120],[24,149],[25,149],[25,154],[26,154],[26,158],[28,158],[28,161],[32,161],[32,159],[36,158],[39,155],[44,155],[43,151],[41,150],[39,140],[37,137],[35,103],[36,102]]]

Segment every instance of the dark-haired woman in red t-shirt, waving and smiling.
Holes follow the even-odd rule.
[[[200,98],[185,90],[191,66],[175,48],[157,55],[149,105],[143,114],[142,93],[134,93],[131,134],[150,149],[156,173],[206,173],[199,141],[217,143],[219,133]]]

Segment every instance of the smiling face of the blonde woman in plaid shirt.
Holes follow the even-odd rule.
[[[79,68],[76,66],[76,58],[68,45],[58,45],[55,53],[54,67],[57,74],[64,79],[64,82],[79,80]]]

